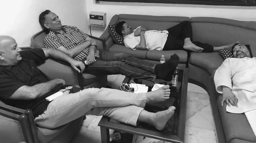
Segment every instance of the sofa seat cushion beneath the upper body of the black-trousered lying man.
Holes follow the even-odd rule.
[[[125,46],[114,44],[109,48],[109,51],[113,51],[113,52],[117,52],[117,53],[127,53],[127,54],[131,54],[134,57],[139,58],[139,59],[146,59],[146,51],[147,50],[132,50]]]

